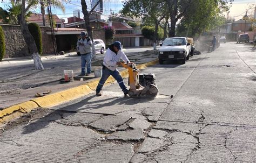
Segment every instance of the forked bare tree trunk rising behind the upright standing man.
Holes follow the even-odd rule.
[[[93,36],[92,36],[92,27],[90,25],[90,15],[92,14],[92,12],[95,10],[95,8],[97,7],[97,5],[102,2],[103,0],[99,0],[97,1],[97,3],[92,6],[92,9],[90,11],[88,11],[88,6],[85,2],[85,0],[81,0],[81,5],[82,5],[82,12],[84,14],[84,22],[85,22],[85,28],[86,31],[88,33],[88,36],[91,38],[92,42],[93,42]],[[94,44],[92,44],[92,58],[95,58],[95,46]]]

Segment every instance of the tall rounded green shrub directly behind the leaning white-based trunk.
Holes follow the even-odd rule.
[[[38,24],[36,23],[29,23],[29,32],[33,36],[35,42],[36,42],[36,47],[38,50],[38,53],[41,55],[43,53],[43,44],[42,44],[42,33],[41,29]]]

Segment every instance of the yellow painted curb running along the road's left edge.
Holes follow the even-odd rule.
[[[137,68],[145,69],[147,66],[156,65],[157,63],[158,59],[141,65],[137,65]],[[127,69],[120,71],[120,75],[122,75],[123,78],[128,77],[129,74]],[[105,84],[112,83],[114,81],[114,78],[110,76],[109,79],[107,79],[107,81],[105,82]],[[10,122],[12,119],[21,117],[25,113],[29,113],[31,110],[36,109],[38,107],[50,108],[62,104],[64,102],[69,102],[71,100],[75,100],[76,98],[88,95],[93,90],[96,90],[98,82],[99,78],[91,82],[85,83],[82,86],[63,90],[55,94],[38,97],[30,101],[26,101],[21,104],[17,104],[12,107],[6,108],[0,111],[0,126]]]

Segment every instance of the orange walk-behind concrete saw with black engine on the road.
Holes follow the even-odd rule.
[[[140,70],[136,68],[134,63],[121,63],[124,68],[128,69],[129,79],[128,85],[129,96],[156,96],[158,88],[156,83],[156,76],[154,74],[139,74]]]

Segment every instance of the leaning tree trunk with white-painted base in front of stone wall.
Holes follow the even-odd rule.
[[[28,46],[29,53],[32,55],[35,69],[42,70],[44,69],[44,67],[41,61],[41,57],[38,53],[35,40],[29,32],[28,24],[26,24],[25,20],[25,0],[22,0],[22,12],[21,15],[19,15],[18,19],[20,20],[19,22],[21,24],[22,34],[25,39],[26,45]]]

